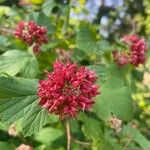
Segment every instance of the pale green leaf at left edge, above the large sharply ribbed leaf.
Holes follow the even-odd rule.
[[[26,52],[18,50],[7,51],[0,56],[0,73],[15,76],[18,73],[26,72],[26,74],[29,73],[28,77],[36,77],[38,73],[38,63],[34,62],[33,65],[33,60],[36,61],[35,59],[36,58],[33,58],[33,56]],[[32,70],[34,68],[36,72],[32,75],[30,72],[33,72]]]

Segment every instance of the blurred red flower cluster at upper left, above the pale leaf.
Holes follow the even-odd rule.
[[[26,42],[29,46],[34,44],[33,51],[38,53],[40,51],[40,46],[48,42],[46,33],[47,29],[45,27],[38,26],[33,21],[21,21],[18,23],[14,34],[16,38]]]

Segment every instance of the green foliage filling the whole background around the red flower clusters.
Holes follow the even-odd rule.
[[[18,3],[13,0],[9,3],[9,0],[0,0],[0,149],[13,150],[21,144],[35,150],[66,149],[66,120],[41,107],[37,94],[39,81],[52,72],[57,59],[94,70],[100,92],[90,111],[83,107],[84,111],[67,120],[72,150],[150,149],[147,25],[150,3],[134,0],[109,6],[102,0],[100,6],[95,4],[88,9],[94,2],[20,0]],[[98,11],[92,18],[96,7]],[[106,26],[102,21],[105,17]],[[137,18],[144,21],[137,22]],[[117,20],[120,20],[118,26]],[[47,32],[48,43],[42,42],[38,53],[33,51],[36,38],[28,44],[15,37],[14,31],[20,21],[34,21],[47,29],[44,34]],[[107,30],[108,36],[101,30]],[[128,50],[130,46],[120,38],[132,33],[139,33],[146,39],[146,62],[138,66],[118,66],[112,53]],[[113,117],[120,120],[121,125]]]

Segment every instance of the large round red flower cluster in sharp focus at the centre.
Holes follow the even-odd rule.
[[[99,94],[95,72],[70,62],[56,61],[53,67],[47,80],[39,81],[39,104],[62,120],[75,117],[79,110],[89,110],[92,98]]]

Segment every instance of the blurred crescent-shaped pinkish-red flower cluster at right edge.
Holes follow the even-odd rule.
[[[126,35],[121,40],[129,46],[129,51],[114,51],[113,58],[115,62],[119,66],[124,66],[129,63],[134,66],[144,64],[146,60],[145,53],[147,52],[147,46],[144,39],[137,35]]]

